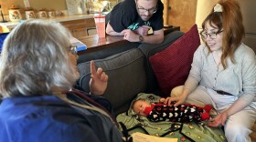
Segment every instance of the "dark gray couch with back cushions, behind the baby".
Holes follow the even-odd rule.
[[[95,65],[109,76],[104,96],[112,103],[115,115],[126,111],[139,93],[161,96],[149,57],[173,44],[183,34],[180,31],[166,34],[162,44],[127,43],[80,55],[80,85],[89,91],[90,61],[94,60]]]

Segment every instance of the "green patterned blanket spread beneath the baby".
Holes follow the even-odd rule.
[[[150,102],[158,102],[160,96],[154,94],[139,94],[134,100],[144,98]],[[133,101],[134,101],[133,100]],[[133,102],[132,102],[133,104]],[[122,122],[128,129],[129,134],[133,132],[148,133],[158,137],[178,138],[178,141],[202,141],[202,142],[225,142],[227,141],[223,131],[219,127],[207,127],[206,122],[199,124],[173,123],[173,122],[151,122],[146,117],[139,117],[130,109],[117,116],[117,121]],[[123,130],[121,128],[121,130]]]

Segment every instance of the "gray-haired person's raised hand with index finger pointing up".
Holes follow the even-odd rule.
[[[103,95],[108,86],[108,76],[102,68],[95,69],[94,61],[91,61],[91,80],[89,83],[91,94]]]

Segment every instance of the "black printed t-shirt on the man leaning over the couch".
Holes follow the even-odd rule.
[[[141,5],[143,6],[143,5]],[[157,11],[148,21],[143,21],[137,13],[134,0],[124,0],[115,5],[110,13],[110,25],[115,32],[122,32],[124,29],[135,30],[139,26],[149,25],[153,31],[163,28],[164,5],[161,0],[157,2]]]

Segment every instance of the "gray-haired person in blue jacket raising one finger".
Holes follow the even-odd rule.
[[[31,20],[6,37],[0,60],[1,141],[122,141],[110,113],[92,99],[97,96],[72,89],[79,73],[70,36],[59,23]],[[107,81],[91,61],[91,94],[102,95]]]

